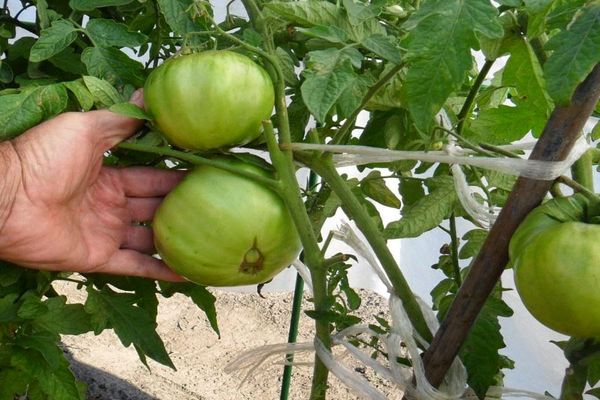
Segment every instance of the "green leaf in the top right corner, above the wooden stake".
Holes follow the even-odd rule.
[[[544,65],[548,93],[556,103],[567,105],[577,85],[600,62],[600,1],[581,8],[546,48],[553,51]]]

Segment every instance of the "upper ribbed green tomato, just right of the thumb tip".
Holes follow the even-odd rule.
[[[167,140],[190,150],[246,144],[273,111],[273,83],[250,58],[225,50],[172,58],[144,85],[146,110]]]

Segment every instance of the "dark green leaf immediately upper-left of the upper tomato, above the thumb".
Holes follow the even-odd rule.
[[[144,66],[114,47],[88,47],[81,54],[88,73],[113,85],[144,86]]]

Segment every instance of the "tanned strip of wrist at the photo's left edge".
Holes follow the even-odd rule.
[[[21,184],[21,161],[12,142],[0,142],[0,236],[11,214]]]

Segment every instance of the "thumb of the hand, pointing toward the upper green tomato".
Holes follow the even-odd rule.
[[[144,95],[142,89],[136,90],[129,102],[143,108]],[[89,114],[92,114],[91,116],[94,118],[93,134],[101,136],[104,139],[103,141],[106,141],[106,150],[133,135],[144,124],[141,119],[127,117],[110,110],[90,111]]]

